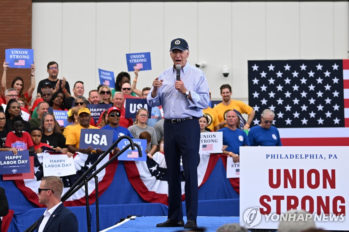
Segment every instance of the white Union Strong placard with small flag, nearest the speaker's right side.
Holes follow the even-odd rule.
[[[223,132],[203,132],[200,134],[199,153],[222,153]]]

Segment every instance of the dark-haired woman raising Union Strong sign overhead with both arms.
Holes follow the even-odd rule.
[[[7,87],[6,87],[6,71],[10,66],[8,66],[8,63],[6,63],[6,60],[3,62],[2,66],[3,66],[3,74],[2,74],[2,79],[1,79],[1,91],[2,91],[2,93],[5,93],[5,91],[7,89]],[[22,98],[25,102],[29,103],[29,105],[31,105],[31,103],[30,103],[31,96],[32,96],[34,89],[35,89],[35,65],[34,64],[30,65],[30,70],[31,70],[31,84],[30,84],[30,87],[29,87],[27,92],[25,92],[23,94],[24,81],[21,77],[16,77],[15,79],[13,79],[12,84],[11,84],[11,88],[14,88],[17,91],[18,97]],[[3,96],[1,94],[1,97],[2,97],[3,101],[6,102],[5,96]],[[29,111],[28,105],[25,107],[25,109]]]

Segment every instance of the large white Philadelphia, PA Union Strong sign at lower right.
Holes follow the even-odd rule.
[[[277,229],[281,220],[298,219],[348,230],[348,152],[344,146],[240,147],[240,224]],[[286,218],[289,209],[311,214]]]

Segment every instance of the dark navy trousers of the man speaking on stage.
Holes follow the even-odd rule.
[[[164,121],[164,154],[169,184],[168,218],[183,219],[180,181],[180,158],[185,177],[185,203],[187,219],[196,221],[198,216],[198,154],[200,125],[198,119],[184,122]]]

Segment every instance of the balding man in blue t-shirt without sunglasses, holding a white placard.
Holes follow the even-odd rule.
[[[233,158],[234,163],[239,162],[240,146],[250,146],[245,131],[236,127],[238,122],[238,115],[235,111],[229,110],[225,116],[227,120],[227,127],[224,127],[218,131],[223,132],[223,145],[228,147],[223,151]]]

